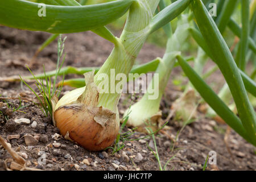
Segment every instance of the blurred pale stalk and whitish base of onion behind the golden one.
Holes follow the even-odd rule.
[[[145,127],[150,127],[152,131],[156,131],[159,125],[162,124],[162,113],[159,111],[160,101],[166,89],[172,68],[174,67],[176,56],[179,55],[181,45],[188,37],[188,27],[188,15],[184,14],[181,16],[180,24],[176,28],[176,31],[173,35],[170,34],[168,38],[166,52],[164,53],[163,59],[160,60],[149,86],[149,88],[154,88],[155,76],[158,76],[159,88],[154,88],[158,94],[155,92],[151,94],[147,90],[141,100],[125,111],[124,115],[129,114],[128,126],[138,127],[138,131],[146,132]],[[158,95],[158,97],[151,98],[154,95]]]

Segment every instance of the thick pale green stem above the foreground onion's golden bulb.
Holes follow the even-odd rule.
[[[115,92],[115,86],[119,81],[115,81],[113,76],[118,73],[124,73],[127,76],[130,72],[149,34],[150,27],[148,25],[159,1],[138,0],[131,5],[125,29],[118,39],[118,44],[115,45],[112,53],[94,77],[94,82],[100,88],[102,79],[108,83],[104,84],[108,88],[104,88],[105,93],[100,93],[98,106],[112,111],[116,110],[121,93]]]

